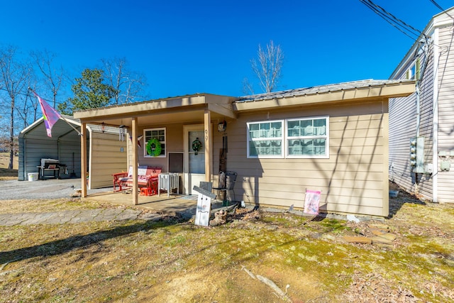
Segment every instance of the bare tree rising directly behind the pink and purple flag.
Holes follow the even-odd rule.
[[[55,108],[57,103],[57,93],[62,86],[65,71],[61,66],[54,68],[53,62],[55,57],[57,57],[55,53],[50,53],[48,50],[44,50],[43,52],[33,51],[30,55],[36,62],[36,65],[38,65],[38,69],[41,74],[43,74],[46,87],[52,91],[52,107]]]

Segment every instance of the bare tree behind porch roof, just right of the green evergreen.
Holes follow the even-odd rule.
[[[101,59],[102,69],[111,87],[114,87],[114,104],[126,104],[139,99],[146,86],[144,75],[128,69],[126,58]]]

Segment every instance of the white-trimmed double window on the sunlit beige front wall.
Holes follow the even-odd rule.
[[[248,122],[248,158],[329,158],[329,117]]]

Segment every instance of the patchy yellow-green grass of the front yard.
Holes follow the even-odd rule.
[[[16,203],[41,210],[84,206],[65,199]],[[453,206],[402,204],[384,222],[397,234],[392,247],[343,241],[369,233],[370,223],[248,211],[216,228],[172,217],[0,226],[0,302],[454,299]],[[258,275],[287,290],[286,297]]]

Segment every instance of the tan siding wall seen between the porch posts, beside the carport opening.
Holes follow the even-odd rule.
[[[112,174],[126,169],[126,142],[118,141],[118,135],[91,132],[89,159],[90,189],[111,187]],[[120,148],[124,152],[121,153]]]

